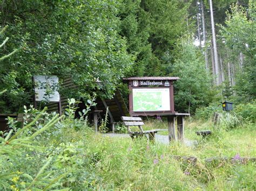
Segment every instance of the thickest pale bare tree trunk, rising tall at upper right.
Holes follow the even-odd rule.
[[[211,12],[211,24],[212,24],[212,43],[213,43],[213,54],[214,54],[214,66],[215,66],[215,76],[216,76],[216,85],[220,84],[220,75],[219,75],[219,60],[218,60],[218,52],[217,52],[217,44],[216,44],[216,36],[215,36],[215,26],[213,19],[213,10],[212,10],[212,0],[209,0],[210,3],[210,12]]]

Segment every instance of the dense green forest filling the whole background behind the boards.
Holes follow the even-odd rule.
[[[177,108],[192,114],[255,98],[254,1],[4,0],[1,27],[1,113],[31,104],[31,77],[46,74],[71,77],[78,90],[60,91],[75,98],[179,76]]]

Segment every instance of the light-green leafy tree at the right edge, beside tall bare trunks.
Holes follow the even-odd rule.
[[[256,95],[255,78],[255,2],[250,1],[248,9],[241,6],[231,6],[227,12],[225,26],[221,26],[221,36],[226,47],[232,49],[232,54],[244,54],[244,63],[238,69],[236,86],[237,101],[247,102]],[[234,62],[237,58],[234,59]]]

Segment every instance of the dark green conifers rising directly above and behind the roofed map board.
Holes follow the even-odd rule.
[[[120,34],[127,40],[127,51],[136,56],[126,76],[169,74],[173,47],[191,29],[186,25],[189,5],[166,0],[123,1]]]

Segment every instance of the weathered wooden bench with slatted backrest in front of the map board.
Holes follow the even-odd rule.
[[[135,136],[136,138],[138,138],[148,134],[149,140],[154,142],[154,138],[155,138],[155,134],[157,133],[157,130],[144,131],[142,129],[142,125],[144,125],[142,118],[122,116],[121,119],[123,120],[124,125],[127,127],[127,131],[129,132],[132,139],[134,139]],[[137,126],[139,131],[131,131],[130,126]]]

